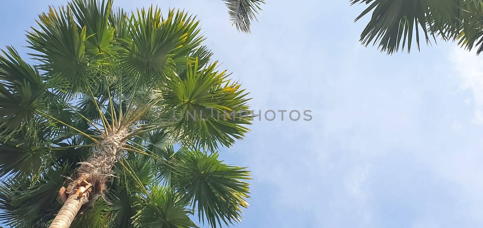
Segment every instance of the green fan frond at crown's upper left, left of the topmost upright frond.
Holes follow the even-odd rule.
[[[88,66],[85,54],[86,27],[79,28],[69,7],[49,7],[39,15],[39,29],[33,28],[27,38],[31,54],[40,61],[39,66],[49,80],[63,83],[66,91],[79,91],[87,83],[85,70]]]

